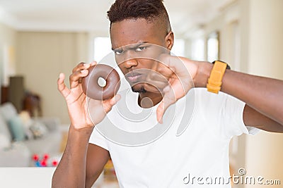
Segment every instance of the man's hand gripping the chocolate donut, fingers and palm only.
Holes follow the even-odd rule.
[[[88,69],[94,65],[96,65],[96,62],[91,64],[79,63],[79,65],[76,65],[69,77],[70,89],[64,84],[65,76],[63,73],[59,75],[59,79],[57,81],[58,90],[67,102],[71,126],[77,130],[85,127],[93,127],[100,123],[100,121],[105,118],[106,113],[108,113],[112,106],[114,106],[114,104],[120,99],[119,95],[106,99],[105,101],[94,99],[89,100],[86,97],[86,94],[83,93],[81,77],[88,76]],[[88,115],[89,103],[91,103],[92,108],[95,108],[93,110],[96,112],[96,118],[93,119],[93,121]]]

